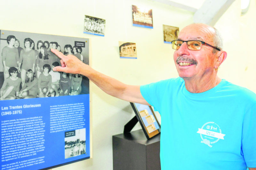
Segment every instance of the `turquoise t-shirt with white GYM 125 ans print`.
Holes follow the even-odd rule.
[[[161,114],[162,170],[256,167],[256,95],[222,80],[190,93],[182,78],[140,86]]]

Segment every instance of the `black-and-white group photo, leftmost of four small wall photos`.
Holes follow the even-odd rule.
[[[105,23],[105,19],[84,15],[84,33],[104,36]]]

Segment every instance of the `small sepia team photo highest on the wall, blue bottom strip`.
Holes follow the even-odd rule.
[[[132,5],[133,26],[153,28],[152,9]]]

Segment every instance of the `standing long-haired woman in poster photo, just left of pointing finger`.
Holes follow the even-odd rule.
[[[44,72],[44,70],[43,70],[44,64],[50,65],[50,61],[48,58],[47,48],[46,48],[46,46],[42,45],[40,47],[40,52],[38,53],[37,58],[36,58],[36,70],[37,70],[36,76],[37,76],[37,78],[39,77],[39,75],[42,72]]]

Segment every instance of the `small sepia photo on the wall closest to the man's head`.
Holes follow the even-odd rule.
[[[164,43],[171,44],[173,40],[177,40],[179,35],[179,27],[163,25]]]

